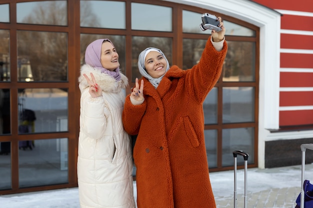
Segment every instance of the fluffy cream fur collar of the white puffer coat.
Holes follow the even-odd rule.
[[[119,92],[120,89],[124,89],[128,85],[128,79],[125,75],[120,73],[121,79],[116,80],[108,74],[101,73],[99,70],[93,68],[88,64],[84,64],[80,68],[80,76],[78,77],[79,89],[82,92],[84,89],[89,87],[89,84],[83,74],[86,74],[90,80],[90,72],[92,72],[96,83],[102,88],[103,92]]]

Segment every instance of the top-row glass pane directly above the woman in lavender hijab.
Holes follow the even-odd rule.
[[[126,28],[125,2],[80,0],[80,26]]]

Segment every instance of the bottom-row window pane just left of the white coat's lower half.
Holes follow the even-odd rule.
[[[18,146],[20,188],[68,183],[66,138],[19,141]]]

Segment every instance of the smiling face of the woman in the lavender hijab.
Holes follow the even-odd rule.
[[[114,46],[108,42],[104,41],[101,46],[101,64],[103,68],[113,71],[119,67],[118,54]]]

